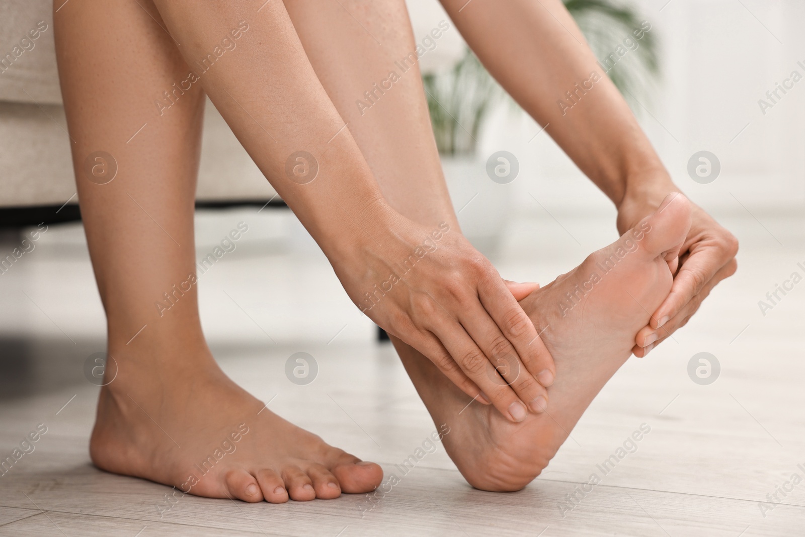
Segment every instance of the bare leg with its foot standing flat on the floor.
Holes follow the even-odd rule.
[[[260,411],[209,353],[192,219],[204,94],[192,85],[159,114],[155,99],[190,71],[159,20],[148,0],[73,0],[55,14],[81,213],[118,365],[101,390],[93,461],[186,493],[250,502],[374,489],[377,465],[357,465]],[[108,184],[85,173],[94,151],[117,162]],[[175,305],[160,312],[155,302],[165,293]]]

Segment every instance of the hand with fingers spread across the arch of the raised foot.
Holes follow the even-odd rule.
[[[331,256],[357,307],[508,419],[542,412],[555,366],[518,304],[539,285],[504,282],[444,222],[429,229],[396,215],[365,231],[360,244]]]

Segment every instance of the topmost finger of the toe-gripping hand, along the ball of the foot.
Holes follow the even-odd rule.
[[[684,305],[698,295],[720,269],[728,264],[729,259],[723,259],[718,250],[703,248],[692,252],[679,267],[679,272],[671,285],[671,292],[651,316],[652,328],[659,328],[671,317],[676,316]]]

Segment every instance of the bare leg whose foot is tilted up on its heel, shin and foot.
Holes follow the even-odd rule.
[[[350,39],[328,35],[332,21],[349,18],[339,6],[327,10],[314,9],[307,2],[286,3],[317,75],[349,122],[386,199],[394,209],[423,224],[444,220],[457,225],[419,72],[408,72],[365,114],[354,102],[387,76],[394,60],[414,49],[407,22],[387,23],[404,17],[403,2],[389,0],[368,12],[357,2],[341,2],[360,21],[360,26],[354,23]],[[406,31],[383,31],[389,26]],[[354,63],[355,58],[362,63]],[[662,214],[642,221],[613,245],[594,252],[582,265],[521,301],[535,326],[547,328],[542,337],[556,361],[557,380],[548,388],[551,408],[546,414],[509,423],[492,407],[478,403],[467,407],[471,399],[431,361],[393,338],[434,422],[451,428],[444,444],[470,484],[516,490],[539,475],[601,387],[630,356],[634,334],[667,296],[672,279],[669,262],[676,262],[689,225],[688,202],[679,196]],[[627,252],[623,258],[622,252]],[[612,264],[613,255],[614,269],[601,271],[598,263]],[[588,283],[593,273],[601,277],[600,282]],[[592,291],[584,291],[591,285]],[[573,294],[576,302],[568,302],[566,293]]]

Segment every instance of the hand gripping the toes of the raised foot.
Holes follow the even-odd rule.
[[[624,233],[646,214],[654,212],[663,197],[679,192],[675,187],[658,188],[638,196],[627,194],[618,208],[617,228]],[[682,328],[699,309],[722,279],[735,274],[738,241],[725,228],[696,204],[693,208],[691,230],[679,252],[679,269],[674,276],[671,293],[651,316],[649,324],[634,338],[632,349],[637,357],[644,357],[678,328]]]

